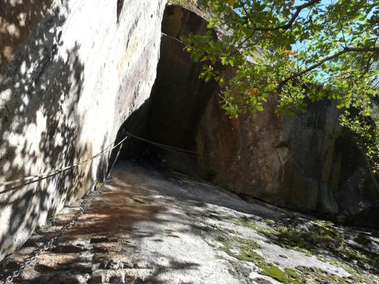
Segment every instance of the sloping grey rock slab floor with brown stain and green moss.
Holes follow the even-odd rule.
[[[54,236],[81,202],[3,261],[3,274]],[[318,242],[325,233],[330,250],[309,247],[311,230],[322,232]],[[364,234],[365,247],[354,253],[365,261],[334,252],[334,241],[347,244],[343,253],[362,246],[342,243],[340,234]],[[14,283],[379,283],[378,247],[376,232],[246,203],[204,181],[122,162],[77,225]]]

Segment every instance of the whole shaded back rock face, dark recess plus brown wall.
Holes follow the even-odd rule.
[[[315,103],[305,115],[284,117],[274,114],[271,101],[260,114],[230,119],[219,104],[220,90],[198,79],[199,66],[180,41],[181,34],[201,33],[206,24],[179,6],[165,11],[149,135],[200,157],[156,152],[178,170],[207,176],[247,197],[379,227],[378,182],[344,136],[333,103]]]

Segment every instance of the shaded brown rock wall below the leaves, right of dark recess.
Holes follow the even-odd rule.
[[[212,98],[196,136],[203,170],[234,192],[301,212],[379,227],[379,192],[362,155],[343,136],[334,105],[276,117],[274,108],[225,118]],[[216,131],[216,129],[221,131]],[[223,159],[234,154],[236,159]]]

